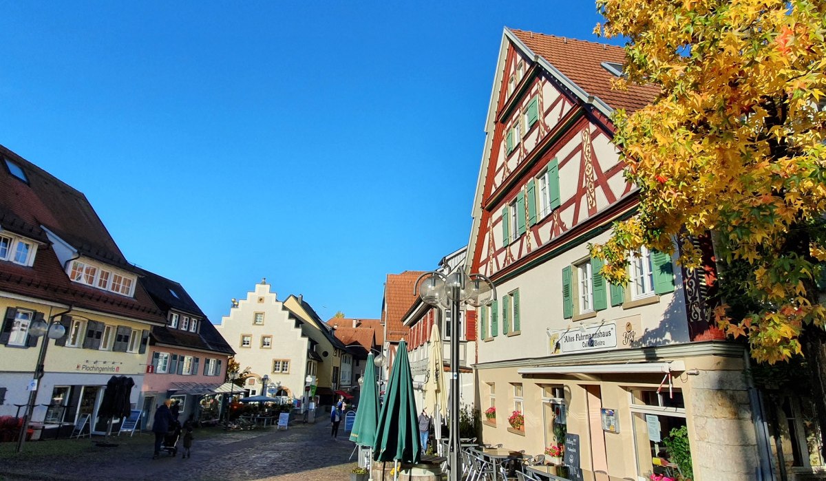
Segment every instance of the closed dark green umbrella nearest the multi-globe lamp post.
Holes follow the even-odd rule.
[[[373,459],[417,464],[420,456],[413,376],[410,360],[407,359],[407,344],[401,341],[396,350],[396,360],[393,361],[390,385],[384,395],[382,412],[378,416]]]

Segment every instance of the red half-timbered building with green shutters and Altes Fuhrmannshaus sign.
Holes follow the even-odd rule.
[[[710,256],[700,274],[676,253],[629,253],[617,286],[589,254],[638,202],[611,114],[658,92],[613,90],[623,62],[616,46],[504,31],[467,257],[497,291],[478,310],[483,439],[530,455],[567,444],[560,473],[642,480],[674,469],[658,460],[683,430],[693,479],[751,479],[765,433],[748,356],[708,321]]]

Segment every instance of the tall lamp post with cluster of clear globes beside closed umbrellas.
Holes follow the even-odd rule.
[[[424,279],[424,281],[422,281]],[[420,283],[420,281],[422,281]],[[479,307],[496,299],[496,287],[482,274],[468,274],[456,269],[448,275],[436,271],[425,272],[416,279],[421,300],[434,307],[450,306],[450,447],[448,457],[449,481],[459,481],[459,310],[467,303]]]

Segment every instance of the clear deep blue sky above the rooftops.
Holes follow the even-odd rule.
[[[0,2],[0,144],[214,322],[266,277],[377,318],[467,244],[504,26],[593,2]]]

